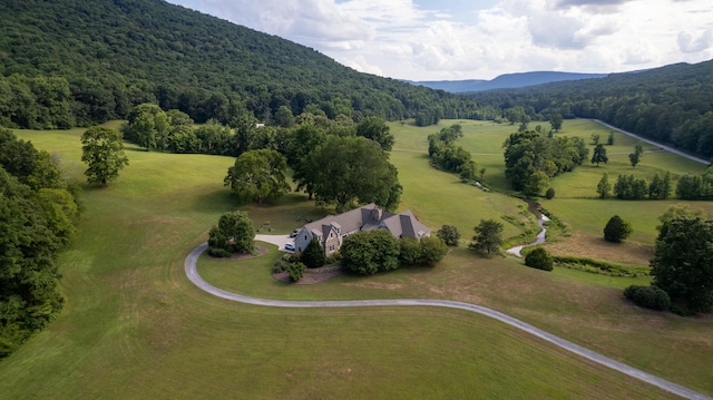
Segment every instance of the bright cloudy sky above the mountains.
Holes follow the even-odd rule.
[[[711,0],[168,0],[411,80],[713,58]]]

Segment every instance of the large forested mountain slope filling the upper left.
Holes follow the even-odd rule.
[[[477,109],[159,0],[6,0],[0,14],[0,125],[9,127],[86,126],[146,101],[198,123],[245,111],[268,120],[283,105],[384,119]]]

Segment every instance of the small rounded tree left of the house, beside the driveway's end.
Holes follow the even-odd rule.
[[[246,213],[235,211],[221,215],[208,233],[208,252],[215,256],[255,252],[255,227]]]

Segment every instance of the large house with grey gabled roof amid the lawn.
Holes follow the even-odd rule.
[[[344,237],[362,231],[387,230],[394,237],[420,238],[431,231],[421,224],[411,211],[393,214],[382,211],[375,204],[368,204],[339,215],[329,215],[304,225],[294,240],[297,252],[306,248],[316,237],[325,255],[331,255],[341,246]]]

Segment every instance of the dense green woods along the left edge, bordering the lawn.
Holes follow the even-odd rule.
[[[0,128],[0,358],[62,308],[56,261],[76,232],[78,192],[56,157]]]

